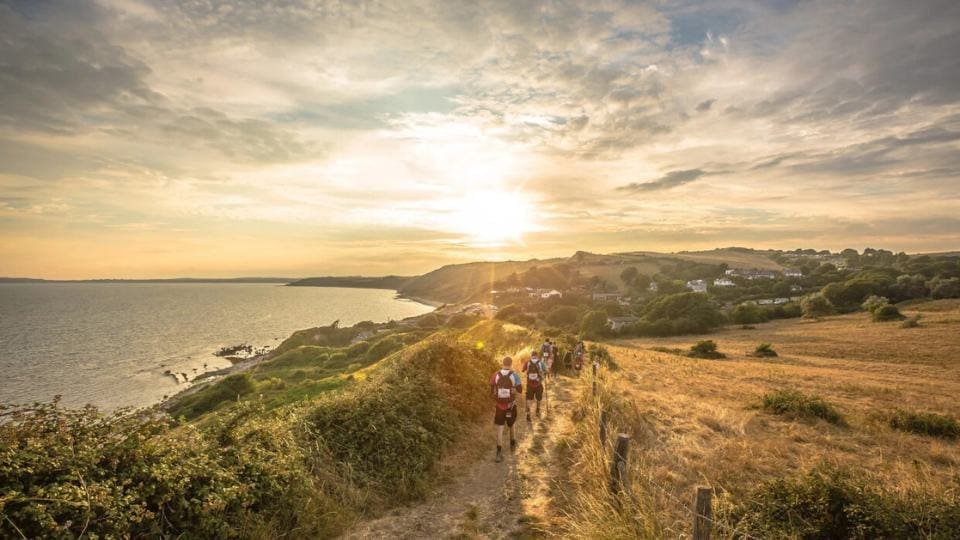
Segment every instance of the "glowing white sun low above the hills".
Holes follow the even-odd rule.
[[[518,243],[536,228],[533,205],[521,193],[473,191],[458,199],[450,228],[475,246]]]

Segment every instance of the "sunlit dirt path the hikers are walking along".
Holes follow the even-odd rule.
[[[462,474],[439,486],[423,503],[357,524],[343,538],[539,538],[553,510],[550,470],[558,437],[570,429],[570,380],[555,379],[548,387],[549,412],[515,426],[518,447],[505,449],[495,463],[496,432],[485,428],[489,451],[476,449]],[[491,410],[492,415],[492,410]]]

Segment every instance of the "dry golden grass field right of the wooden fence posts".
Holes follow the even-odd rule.
[[[706,483],[733,502],[760,481],[823,462],[901,492],[955,492],[960,447],[888,424],[898,408],[960,415],[960,302],[905,309],[914,311],[923,314],[919,328],[871,323],[865,314],[728,328],[709,336],[729,357],[719,361],[649,350],[686,348],[695,337],[613,344],[625,398],[640,415],[629,426],[635,463],[681,501]],[[780,356],[748,356],[761,342]],[[763,394],[779,388],[822,396],[849,427],[789,421],[756,408]],[[686,532],[689,518],[676,501],[649,491],[666,533]]]

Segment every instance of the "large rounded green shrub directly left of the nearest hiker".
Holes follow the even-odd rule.
[[[465,422],[489,412],[496,364],[439,340],[387,361],[355,391],[324,395],[309,421],[353,482],[408,500],[425,493]]]

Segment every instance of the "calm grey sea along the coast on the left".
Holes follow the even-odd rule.
[[[0,284],[0,402],[104,408],[156,403],[230,365],[212,353],[274,347],[303,328],[432,308],[393,291],[247,283]],[[204,367],[206,365],[206,367]]]

